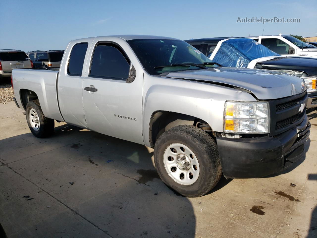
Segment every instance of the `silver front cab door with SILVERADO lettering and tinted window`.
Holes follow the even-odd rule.
[[[91,54],[82,88],[88,129],[143,144],[143,70],[127,81],[136,57],[129,58],[115,42],[96,42]]]

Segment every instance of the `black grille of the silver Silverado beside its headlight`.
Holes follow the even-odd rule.
[[[307,92],[269,101],[270,136],[281,134],[299,125],[304,120],[306,111],[299,110],[302,103],[305,103],[305,106],[307,105]]]

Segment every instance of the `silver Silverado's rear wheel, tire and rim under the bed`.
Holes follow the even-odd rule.
[[[54,132],[54,120],[44,116],[39,100],[32,100],[26,104],[26,121],[32,134],[38,138],[51,136]]]

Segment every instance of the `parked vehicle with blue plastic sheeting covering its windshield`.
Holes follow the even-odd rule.
[[[307,85],[307,108],[317,106],[317,59],[315,58],[281,56],[248,38],[204,38],[186,40],[186,42],[199,49],[213,62],[223,66],[274,70],[301,77]]]

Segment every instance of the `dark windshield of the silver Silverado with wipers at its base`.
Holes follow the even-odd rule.
[[[218,66],[208,64],[212,63],[210,59],[181,40],[135,39],[127,42],[138,56],[143,67],[151,75]]]

